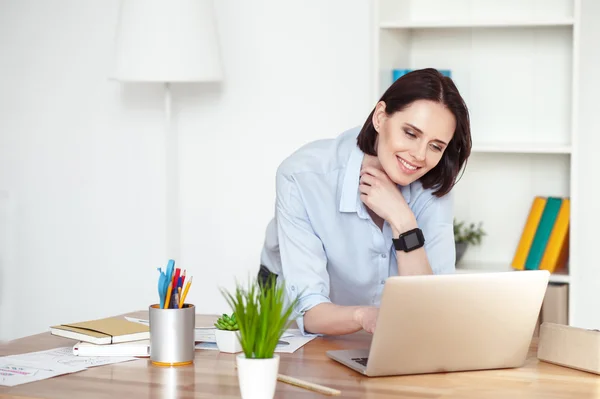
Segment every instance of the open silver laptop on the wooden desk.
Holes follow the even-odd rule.
[[[389,277],[370,347],[327,356],[369,377],[520,367],[549,276],[522,270]]]

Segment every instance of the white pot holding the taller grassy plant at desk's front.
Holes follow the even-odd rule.
[[[277,386],[279,355],[268,359],[246,359],[240,353],[236,356],[238,382],[242,399],[272,399]]]

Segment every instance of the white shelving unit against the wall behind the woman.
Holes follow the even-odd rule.
[[[599,328],[600,311],[586,302],[598,292],[600,306],[600,271],[577,239],[600,228],[600,207],[582,209],[577,165],[595,151],[579,132],[600,136],[600,108],[591,107],[600,83],[581,73],[600,70],[600,1],[375,0],[373,11],[373,100],[393,69],[434,67],[451,71],[469,107],[473,150],[455,189],[455,215],[483,222],[487,235],[468,249],[462,271],[509,270],[533,198],[569,197],[570,262],[551,280],[570,285],[569,323]]]

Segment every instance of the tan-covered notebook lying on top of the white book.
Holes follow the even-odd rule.
[[[148,326],[120,317],[52,326],[50,333],[98,345],[150,339]]]

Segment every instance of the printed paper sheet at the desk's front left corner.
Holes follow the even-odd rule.
[[[0,357],[0,385],[15,386],[90,367],[136,360],[135,357],[84,357],[73,355],[72,347]]]

